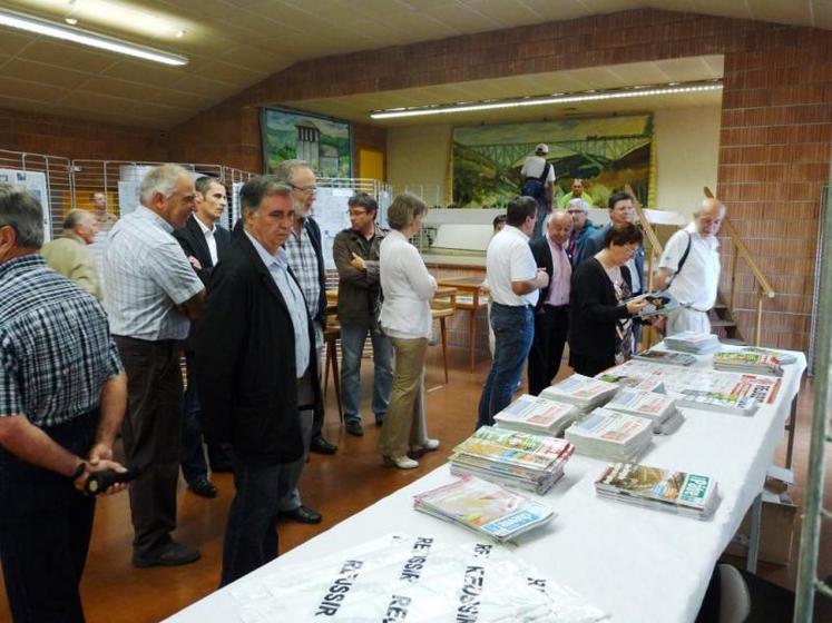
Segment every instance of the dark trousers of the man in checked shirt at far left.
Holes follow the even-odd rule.
[[[98,411],[45,428],[57,444],[86,456]],[[0,563],[14,623],[84,621],[78,584],[92,533],[95,498],[60,474],[0,447]]]

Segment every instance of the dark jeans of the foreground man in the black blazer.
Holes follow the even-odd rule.
[[[231,584],[277,557],[277,511],[286,494],[283,472],[290,464],[234,463],[236,493],[223,543],[221,586]]]

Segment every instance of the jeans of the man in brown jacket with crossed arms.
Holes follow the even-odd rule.
[[[375,419],[384,419],[393,383],[393,345],[385,335],[370,330],[366,325],[341,325],[341,392],[344,421],[361,422],[361,356],[366,334],[373,344],[373,400]]]

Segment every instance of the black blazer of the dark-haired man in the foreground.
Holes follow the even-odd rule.
[[[231,443],[238,459],[255,465],[290,463],[303,454],[292,318],[256,249],[236,229],[211,278],[196,365],[208,441]]]

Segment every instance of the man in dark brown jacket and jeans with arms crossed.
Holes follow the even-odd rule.
[[[373,344],[373,400],[375,425],[381,426],[390,402],[393,356],[390,339],[379,328],[381,285],[379,248],[384,233],[375,225],[379,206],[370,195],[359,192],[348,201],[352,227],[335,236],[332,256],[339,274],[337,317],[341,324],[341,387],[344,426],[361,437],[361,356],[366,334]]]

